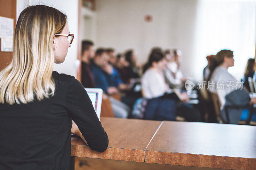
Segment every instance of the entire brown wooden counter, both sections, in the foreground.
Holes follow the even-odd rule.
[[[71,156],[224,169],[256,167],[255,126],[105,117],[101,123],[109,137],[108,149],[92,151],[73,137]]]

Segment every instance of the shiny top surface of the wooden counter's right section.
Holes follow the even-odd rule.
[[[256,158],[256,127],[164,121],[147,151]]]

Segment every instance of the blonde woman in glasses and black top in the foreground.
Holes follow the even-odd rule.
[[[52,71],[72,43],[67,17],[55,8],[23,10],[13,59],[0,72],[0,169],[69,169],[72,119],[89,147],[104,152],[108,136],[82,84]],[[74,124],[74,127],[76,127]]]

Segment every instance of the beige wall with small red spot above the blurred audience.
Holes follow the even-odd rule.
[[[137,51],[146,62],[154,46],[179,48],[181,69],[191,76],[197,0],[96,0],[96,47]],[[153,21],[144,21],[151,15]]]

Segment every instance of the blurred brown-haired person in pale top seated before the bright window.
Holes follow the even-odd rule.
[[[242,83],[228,73],[228,67],[234,66],[234,55],[231,50],[221,50],[214,56],[217,67],[213,70],[208,84],[209,90],[219,96],[220,113],[226,122],[226,106],[246,106],[256,104],[256,98],[250,98],[249,94],[242,89]],[[238,124],[243,109],[228,109],[229,123]]]

